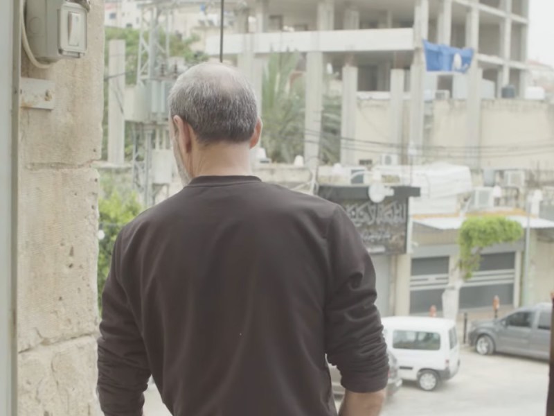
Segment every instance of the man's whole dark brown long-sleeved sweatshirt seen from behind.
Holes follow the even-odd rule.
[[[140,416],[152,374],[175,416],[336,415],[386,386],[375,270],[346,213],[256,177],[199,177],[119,234],[98,393]]]

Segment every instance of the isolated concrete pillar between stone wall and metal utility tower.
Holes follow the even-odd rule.
[[[108,162],[125,162],[125,40],[109,41]]]

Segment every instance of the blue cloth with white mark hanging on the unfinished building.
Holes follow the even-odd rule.
[[[427,40],[423,41],[423,46],[425,47],[427,71],[465,72],[472,64],[473,49],[452,48],[452,46],[432,44]],[[455,60],[458,61],[457,65],[454,65]]]

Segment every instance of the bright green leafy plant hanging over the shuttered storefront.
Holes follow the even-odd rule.
[[[465,280],[479,269],[484,248],[502,243],[513,243],[524,234],[519,223],[501,216],[467,218],[458,235],[460,268]]]

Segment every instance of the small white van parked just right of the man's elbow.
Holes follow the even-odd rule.
[[[460,345],[454,321],[395,316],[383,318],[383,326],[402,379],[417,381],[422,390],[431,391],[458,372]]]

